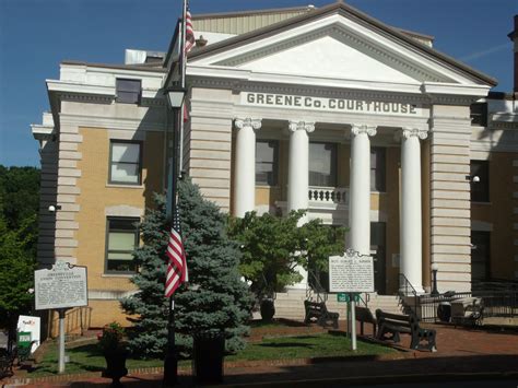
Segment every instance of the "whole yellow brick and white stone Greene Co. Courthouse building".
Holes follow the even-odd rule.
[[[400,274],[429,292],[432,263],[440,292],[518,279],[518,77],[514,94],[488,95],[496,80],[433,37],[343,2],[192,21],[183,169],[207,199],[348,226],[348,245],[375,257],[378,294],[396,294]],[[179,31],[166,54],[62,62],[33,126],[38,260],[87,266],[93,327],[123,319],[136,222],[167,186]],[[515,19],[515,52],[517,36]]]

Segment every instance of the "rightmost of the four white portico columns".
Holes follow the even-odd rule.
[[[427,132],[403,128],[401,134],[400,273],[423,293],[420,139],[426,139]]]

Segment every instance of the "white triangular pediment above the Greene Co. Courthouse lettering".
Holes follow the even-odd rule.
[[[188,64],[398,84],[484,84],[424,45],[409,44],[401,34],[361,22],[343,9],[209,46],[189,56]]]

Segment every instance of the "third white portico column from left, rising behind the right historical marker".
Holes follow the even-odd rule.
[[[360,255],[370,255],[370,140],[376,127],[351,128],[350,244]]]

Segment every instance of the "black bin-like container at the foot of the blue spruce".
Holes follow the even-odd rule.
[[[197,333],[193,338],[192,371],[197,384],[223,381],[225,333]]]

